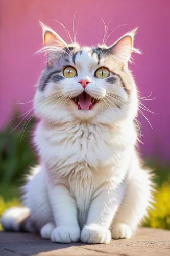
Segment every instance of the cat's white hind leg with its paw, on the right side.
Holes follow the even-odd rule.
[[[124,199],[111,225],[113,239],[130,238],[147,214],[150,201],[152,201],[150,176],[147,170],[138,168],[127,179]]]

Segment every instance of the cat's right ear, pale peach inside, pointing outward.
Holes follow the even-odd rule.
[[[120,59],[120,61],[123,61],[124,63],[127,63],[131,58],[132,51],[134,50],[134,36],[137,29],[138,28],[135,28],[129,33],[120,37],[113,45],[109,47],[110,52],[113,53],[116,57]]]

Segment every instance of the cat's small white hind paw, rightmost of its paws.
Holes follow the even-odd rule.
[[[132,236],[132,229],[130,226],[125,223],[117,223],[113,226],[112,238],[121,239],[121,238],[130,238]]]

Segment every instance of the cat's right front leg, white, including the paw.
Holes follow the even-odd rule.
[[[122,187],[121,187],[122,188]],[[81,241],[89,244],[109,243],[112,219],[122,200],[122,193],[110,185],[100,187],[93,194],[86,225],[81,232]]]

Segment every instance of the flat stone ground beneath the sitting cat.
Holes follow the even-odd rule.
[[[1,256],[170,256],[170,231],[140,228],[131,239],[112,240],[110,244],[57,244],[29,233],[0,232]]]

